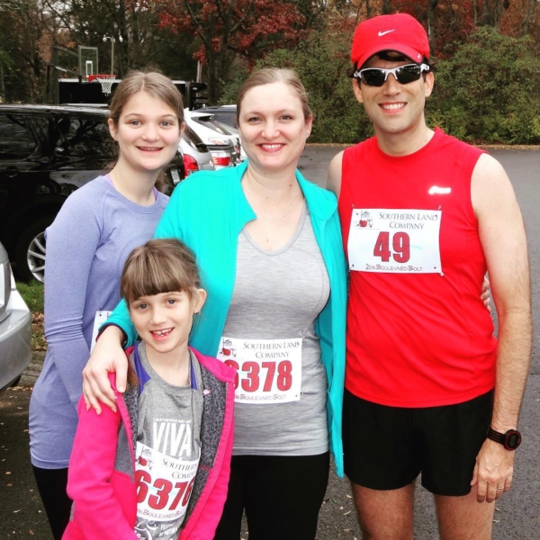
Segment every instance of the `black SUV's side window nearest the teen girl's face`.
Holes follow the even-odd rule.
[[[61,148],[65,155],[79,157],[114,156],[109,129],[101,118],[58,118]]]

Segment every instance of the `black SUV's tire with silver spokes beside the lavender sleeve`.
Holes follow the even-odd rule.
[[[45,278],[45,229],[54,221],[54,216],[45,216],[33,221],[23,230],[17,240],[15,251],[16,275],[23,282],[36,279],[43,283]]]

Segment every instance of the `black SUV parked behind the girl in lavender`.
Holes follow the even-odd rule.
[[[44,231],[67,196],[114,157],[107,111],[84,106],[0,105],[0,241],[19,279],[43,280]],[[169,190],[184,177],[180,153]]]

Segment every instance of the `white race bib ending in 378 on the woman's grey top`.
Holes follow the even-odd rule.
[[[300,401],[302,338],[221,338],[217,356],[237,370],[234,401]]]

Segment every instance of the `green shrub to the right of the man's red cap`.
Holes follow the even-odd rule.
[[[540,142],[540,60],[528,37],[482,27],[438,62],[428,121],[459,139]]]

